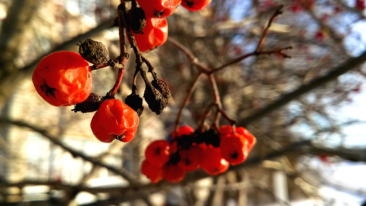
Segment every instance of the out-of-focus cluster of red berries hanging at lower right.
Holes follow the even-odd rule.
[[[184,179],[186,171],[201,168],[210,175],[225,172],[229,164],[242,163],[254,146],[256,139],[243,127],[235,132],[232,126],[220,130],[194,131],[190,126],[181,126],[172,133],[172,140],[158,140],[145,151],[141,172],[153,183],[165,178],[170,182]]]

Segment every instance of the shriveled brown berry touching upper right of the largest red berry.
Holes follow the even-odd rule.
[[[79,45],[79,54],[93,65],[102,65],[109,61],[108,51],[104,44],[90,38]]]

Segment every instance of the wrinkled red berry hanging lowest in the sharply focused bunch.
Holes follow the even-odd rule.
[[[135,110],[118,99],[105,100],[91,119],[91,130],[98,140],[109,143],[113,139],[131,141],[139,118]]]

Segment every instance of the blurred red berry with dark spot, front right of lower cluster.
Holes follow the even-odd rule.
[[[239,133],[229,133],[220,141],[221,155],[230,164],[237,165],[247,158],[247,140]]]

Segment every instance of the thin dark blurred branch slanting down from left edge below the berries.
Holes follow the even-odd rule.
[[[4,123],[4,124],[12,124],[12,125],[16,125],[16,126],[20,126],[20,127],[26,127],[29,128],[35,132],[40,133],[41,135],[47,137],[52,143],[57,144],[58,146],[62,147],[64,150],[70,152],[70,154],[74,157],[81,157],[82,159],[84,159],[85,161],[91,162],[93,163],[93,165],[96,166],[101,166],[101,167],[105,167],[108,170],[111,170],[112,172],[122,176],[124,179],[128,180],[130,182],[130,184],[135,185],[138,183],[138,179],[137,177],[128,172],[127,170],[122,169],[117,169],[114,168],[112,166],[109,166],[105,163],[102,163],[101,161],[98,161],[95,158],[89,157],[84,155],[82,152],[79,152],[71,147],[66,146],[65,144],[63,144],[59,138],[57,136],[52,136],[50,135],[46,130],[38,128],[35,125],[30,125],[26,122],[22,122],[22,121],[15,121],[15,120],[11,120],[11,119],[7,119],[7,118],[1,118],[0,119],[0,123]]]

